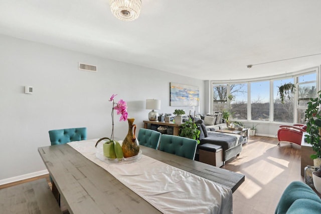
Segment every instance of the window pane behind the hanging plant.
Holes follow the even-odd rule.
[[[284,97],[281,103],[278,87],[285,83],[294,83],[293,78],[273,81],[273,121],[293,123],[294,121],[294,94],[289,92],[290,99]]]

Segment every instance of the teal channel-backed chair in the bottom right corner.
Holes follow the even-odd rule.
[[[307,184],[291,182],[276,206],[275,214],[321,213],[321,199]]]

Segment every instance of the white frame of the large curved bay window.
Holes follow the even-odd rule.
[[[245,79],[245,80],[238,80],[238,81],[211,81],[211,94],[210,94],[210,112],[215,112],[218,109],[214,109],[215,105],[213,103],[213,85],[226,85],[227,86],[227,92],[228,95],[230,94],[230,86],[233,84],[247,84],[247,119],[240,119],[240,121],[255,121],[255,122],[272,122],[272,123],[302,123],[302,118],[300,119],[297,115],[300,113],[302,114],[303,111],[305,111],[306,106],[299,106],[298,105],[298,86],[299,86],[299,77],[302,75],[308,75],[308,74],[315,74],[316,79],[315,81],[315,88],[316,91],[320,90],[320,74],[319,74],[319,67],[313,67],[293,73],[287,73],[284,75],[276,75],[271,77],[264,77],[264,78],[255,78],[255,79]],[[274,121],[274,89],[273,89],[273,81],[275,80],[282,80],[282,79],[293,79],[294,84],[296,85],[296,93],[293,97],[294,99],[294,105],[293,105],[293,121],[289,122],[283,122],[283,121]],[[251,83],[254,82],[263,82],[263,81],[269,81],[269,118],[267,120],[253,120],[251,118]],[[306,83],[306,82],[305,82]],[[230,108],[230,101],[229,99],[226,100],[226,109]],[[300,119],[300,121],[299,121]],[[233,120],[238,120],[237,118]]]

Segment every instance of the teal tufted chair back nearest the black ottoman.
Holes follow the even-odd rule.
[[[159,150],[194,160],[197,141],[175,135],[162,134]]]

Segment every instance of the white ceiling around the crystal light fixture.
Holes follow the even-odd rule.
[[[142,0],[139,18],[108,0],[0,0],[0,34],[202,80],[319,66],[320,0]]]

